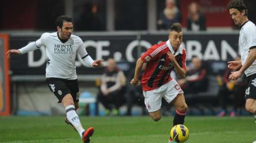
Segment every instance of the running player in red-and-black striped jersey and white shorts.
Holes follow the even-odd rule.
[[[186,51],[181,46],[182,32],[181,24],[174,23],[170,29],[168,41],[155,44],[137,60],[132,85],[139,82],[139,74],[143,63],[147,63],[146,70],[142,76],[141,84],[145,105],[154,121],[161,118],[162,97],[176,107],[176,115],[173,126],[183,124],[187,105],[183,91],[176,80],[172,79],[170,72],[175,69],[182,78],[186,74]],[[168,143],[174,143],[169,139]]]

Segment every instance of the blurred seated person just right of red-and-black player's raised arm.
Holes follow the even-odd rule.
[[[207,90],[206,69],[198,57],[192,59],[192,66],[188,69],[186,77],[177,81],[184,93],[199,93]]]

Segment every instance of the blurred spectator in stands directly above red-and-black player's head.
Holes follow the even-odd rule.
[[[163,13],[157,22],[159,29],[170,29],[175,22],[181,22],[181,13],[177,8],[175,0],[166,0]]]

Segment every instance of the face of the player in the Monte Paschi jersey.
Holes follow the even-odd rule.
[[[73,32],[73,24],[72,22],[63,22],[62,28],[58,26],[57,29],[62,39],[69,39]]]

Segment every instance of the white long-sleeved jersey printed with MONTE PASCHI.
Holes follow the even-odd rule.
[[[40,39],[19,50],[24,54],[41,46],[46,48],[46,78],[54,77],[75,80],[77,79],[75,70],[76,55],[79,54],[82,59],[89,57],[81,38],[71,35],[71,38],[63,43],[58,37],[57,32],[44,33]],[[92,62],[90,61],[90,63]]]

